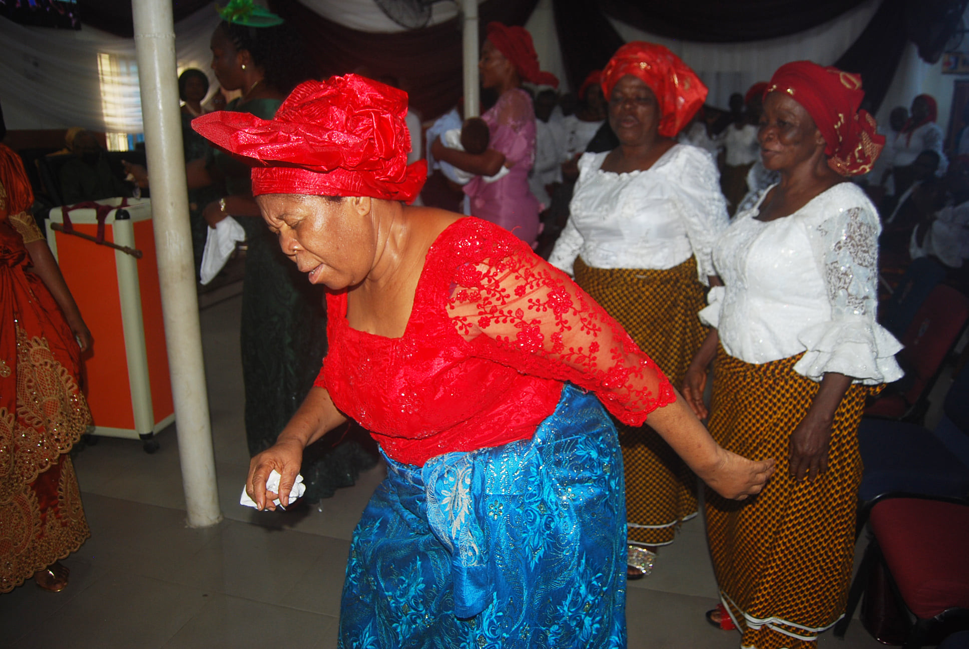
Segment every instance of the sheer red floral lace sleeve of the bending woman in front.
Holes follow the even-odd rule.
[[[639,425],[675,400],[670,381],[564,273],[505,236],[456,268],[447,309],[472,353],[571,381]]]

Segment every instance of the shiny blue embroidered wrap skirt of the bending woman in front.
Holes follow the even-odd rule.
[[[626,646],[622,462],[571,385],[535,437],[423,467],[388,459],[363,511],[339,646]]]

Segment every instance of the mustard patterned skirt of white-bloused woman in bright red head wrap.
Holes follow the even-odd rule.
[[[697,263],[666,271],[592,268],[575,263],[576,283],[621,324],[679,389],[706,337],[697,312],[706,306]],[[680,522],[697,513],[697,478],[648,426],[616,422],[626,473],[629,542],[672,543]]]

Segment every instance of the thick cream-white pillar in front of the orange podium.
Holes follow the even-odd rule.
[[[133,0],[144,147],[188,524],[222,520],[188,220],[172,0]]]

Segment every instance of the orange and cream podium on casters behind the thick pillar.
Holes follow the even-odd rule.
[[[90,432],[142,439],[151,453],[154,434],[174,421],[155,233],[150,200],[121,202],[52,209],[47,243],[94,339],[84,355]],[[65,232],[72,227],[80,236]],[[99,238],[99,228],[101,240],[117,247],[82,238]]]

